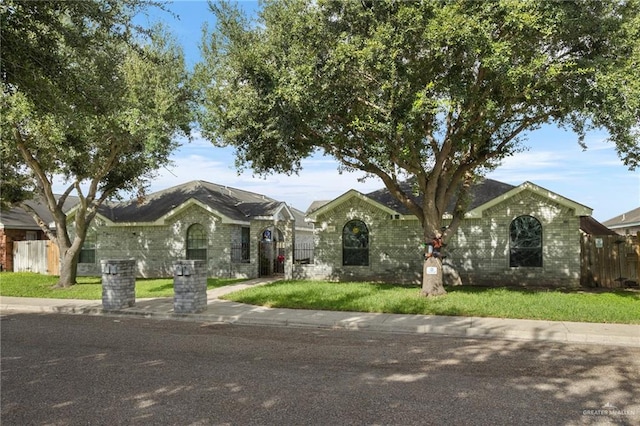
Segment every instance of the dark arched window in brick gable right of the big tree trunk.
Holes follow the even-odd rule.
[[[518,216],[509,226],[509,266],[542,266],[542,224],[533,216]]]

